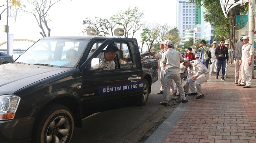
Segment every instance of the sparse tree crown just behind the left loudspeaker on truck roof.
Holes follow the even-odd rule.
[[[91,20],[91,18],[87,17],[85,20],[83,20],[83,25],[85,25],[85,29],[83,30],[87,31],[88,28],[96,28],[98,31],[98,36],[106,36],[109,35],[108,24],[109,22],[107,19],[95,17],[93,20]]]

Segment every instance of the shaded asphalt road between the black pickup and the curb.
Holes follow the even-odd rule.
[[[143,143],[179,103],[160,105],[160,81],[152,85],[144,106],[131,106],[96,113],[83,119],[82,129],[75,128],[71,143]]]

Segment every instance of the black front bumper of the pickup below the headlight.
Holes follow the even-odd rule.
[[[34,122],[33,117],[0,120],[0,143],[30,142]]]

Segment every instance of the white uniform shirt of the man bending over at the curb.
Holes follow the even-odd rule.
[[[191,67],[187,68],[187,78],[191,78],[193,76],[200,76],[202,74],[209,74],[207,67],[199,62],[198,60],[189,61]],[[186,85],[188,85],[188,80],[185,82]]]

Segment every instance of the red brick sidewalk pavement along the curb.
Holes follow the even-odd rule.
[[[234,64],[227,76],[210,76],[204,97],[194,97],[162,143],[256,143],[256,80],[251,88],[237,87]]]

